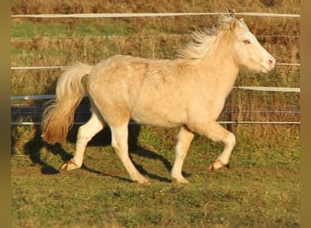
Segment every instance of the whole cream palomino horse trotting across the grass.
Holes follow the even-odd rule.
[[[240,68],[266,73],[276,60],[260,46],[244,20],[233,14],[220,16],[217,26],[192,36],[193,41],[173,60],[118,55],[95,66],[78,63],[65,71],[57,81],[55,100],[45,109],[42,137],[51,144],[66,139],[75,109],[85,96],[82,78],[87,78],[92,117],[79,128],[75,156],[62,170],[80,168],[87,142],[108,125],[112,147],[131,180],[148,182],[128,155],[130,119],[139,124],[180,127],[172,181],[187,182],[182,166],[195,132],[225,144],[209,171],[228,164],[236,137],[216,121],[226,97]]]

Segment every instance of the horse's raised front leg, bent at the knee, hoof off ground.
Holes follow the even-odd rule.
[[[225,144],[223,152],[218,156],[209,167],[208,171],[214,171],[221,167],[228,167],[232,150],[236,146],[236,137],[230,131],[224,129],[216,121],[209,121],[205,124],[197,124],[196,131],[205,135],[207,138],[214,141],[222,141]]]

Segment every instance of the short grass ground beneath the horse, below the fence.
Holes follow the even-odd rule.
[[[183,170],[190,184],[183,185],[169,175],[176,130],[141,127],[135,140],[138,131],[131,129],[131,157],[149,186],[129,181],[109,131],[90,142],[76,171],[58,171],[72,156],[75,129],[62,146],[23,137],[24,152],[12,157],[13,227],[299,226],[298,139],[238,140],[231,169],[207,172],[223,147],[196,136]]]

